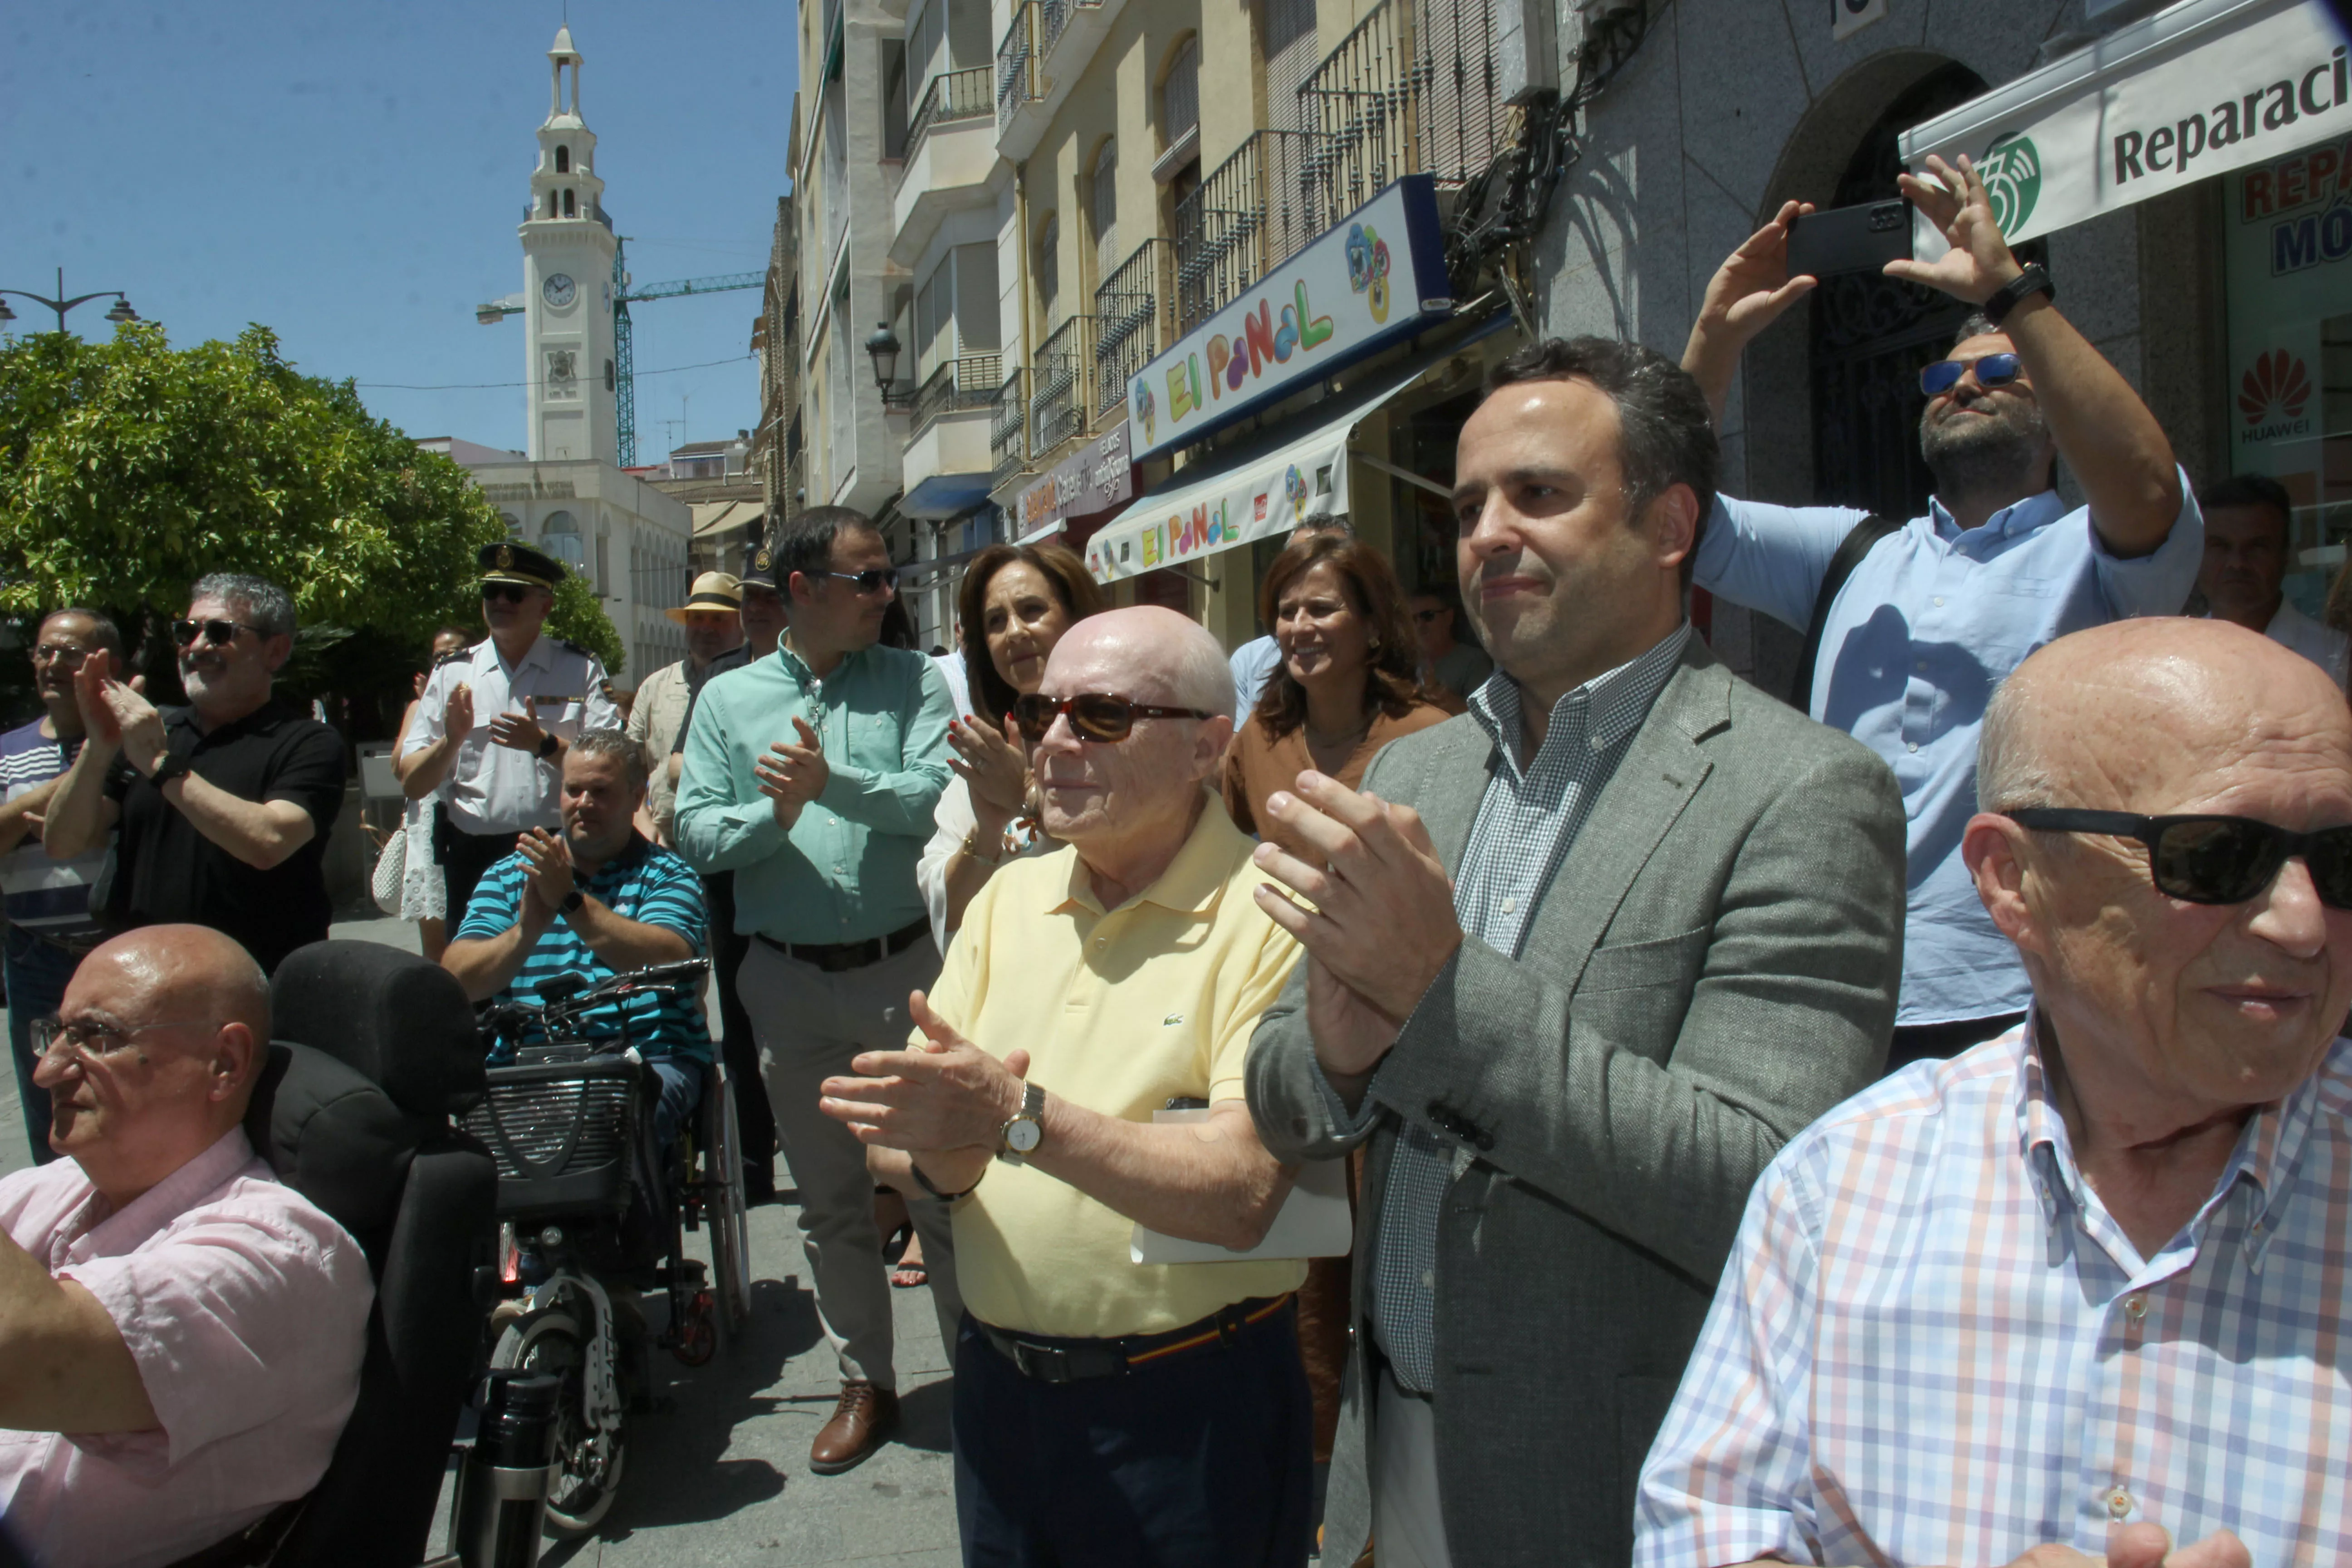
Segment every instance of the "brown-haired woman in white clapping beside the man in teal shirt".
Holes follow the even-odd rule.
[[[1037,691],[1061,635],[1103,609],[1103,590],[1061,545],[990,545],[964,571],[955,609],[971,712],[948,724],[955,778],[938,797],[938,832],[915,865],[941,952],[964,924],[964,905],[1004,860],[1054,846],[1035,827],[1018,827],[1035,813],[1028,745],[1011,710]]]

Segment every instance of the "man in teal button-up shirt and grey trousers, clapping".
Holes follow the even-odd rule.
[[[858,1051],[901,1048],[908,992],[938,978],[915,860],[948,785],[953,708],[929,658],[880,646],[896,571],[866,515],[802,512],[753,569],[774,571],[790,628],[694,703],[677,849],[703,875],[736,875],[736,931],[753,938],[736,987],[800,1182],[816,1314],[842,1366],[809,1469],[837,1474],[889,1436],[898,1380],[866,1147],[816,1107],[818,1084],[847,1077]],[[948,1206],[910,1211],[941,1342],[955,1345]]]

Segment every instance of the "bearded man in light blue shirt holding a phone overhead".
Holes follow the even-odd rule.
[[[1900,176],[1903,195],[1952,249],[1889,261],[1886,275],[1973,306],[1950,357],[1922,374],[1926,515],[1898,524],[1724,496],[1696,571],[1717,597],[1806,630],[1799,705],[1863,741],[1903,785],[1910,910],[1889,1067],[1952,1056],[2025,1009],[2025,973],[1959,858],[1985,696],[2051,637],[2178,614],[2204,557],[2197,501],[2154,414],[2058,315],[2049,273],[2009,252],[1971,162],[1929,158],[1926,174]],[[1816,284],[1788,275],[1788,230],[1806,212],[1783,205],[1708,284],[1682,364],[1717,423],[1740,350]],[[1788,388],[1750,376],[1745,395]],[[2058,458],[2086,505],[2058,498]]]

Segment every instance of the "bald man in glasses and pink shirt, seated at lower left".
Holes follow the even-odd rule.
[[[245,1140],[270,992],[235,940],[146,926],[33,1025],[64,1159],[0,1178],[0,1533],[148,1568],[327,1472],[374,1286]]]

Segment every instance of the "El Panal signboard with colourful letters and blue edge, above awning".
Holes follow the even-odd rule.
[[[1136,371],[1134,456],[1197,442],[1451,308],[1437,181],[1406,174]]]

